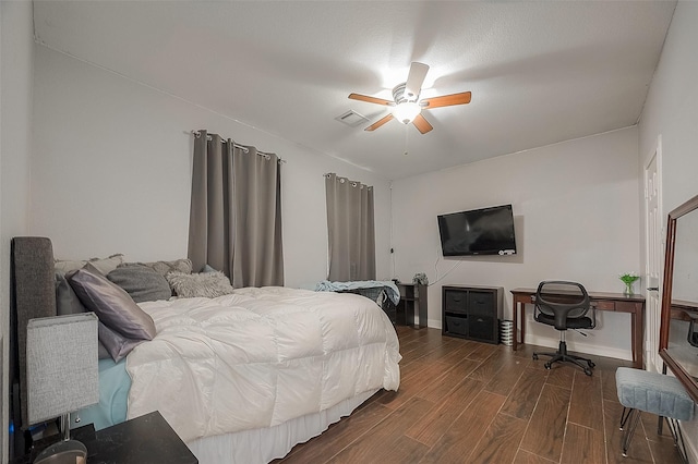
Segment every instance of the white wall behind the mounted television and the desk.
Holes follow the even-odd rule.
[[[512,318],[509,291],[545,279],[622,292],[618,273],[640,271],[637,149],[637,129],[630,127],[395,182],[395,270],[404,281],[426,272],[433,283],[429,325],[441,327],[445,284],[504,286],[506,319]],[[441,257],[438,213],[503,204],[514,208],[516,256]],[[530,308],[527,315],[530,319]],[[599,317],[599,330],[587,339],[569,334],[570,347],[631,358],[630,316],[600,312]],[[554,329],[530,320],[527,331],[528,343],[559,341]]]

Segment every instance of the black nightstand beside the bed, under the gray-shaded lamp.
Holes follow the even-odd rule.
[[[88,464],[197,464],[172,427],[157,411],[95,431],[92,425],[71,430],[71,438],[87,448]],[[40,443],[10,464],[29,464],[51,443]]]

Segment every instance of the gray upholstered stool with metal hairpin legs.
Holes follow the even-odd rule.
[[[675,377],[618,367],[615,371],[615,382],[618,401],[623,405],[621,430],[623,430],[624,456],[627,456],[641,411],[660,416],[660,424],[662,417],[673,420],[691,420],[694,418],[694,401]],[[681,434],[681,429],[672,427],[672,435],[676,444],[679,444],[681,441],[683,447],[683,439],[675,435],[674,429],[678,434]],[[685,456],[685,451],[679,451]]]

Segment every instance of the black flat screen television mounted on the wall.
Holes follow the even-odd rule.
[[[438,233],[444,256],[516,254],[512,205],[440,215]]]

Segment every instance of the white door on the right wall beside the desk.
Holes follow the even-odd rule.
[[[661,371],[659,328],[661,313],[661,276],[664,266],[664,218],[661,211],[661,135],[649,163],[645,167],[645,286],[647,288],[645,318],[645,359],[647,369]]]

